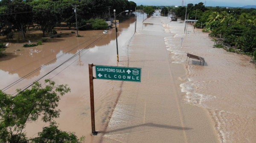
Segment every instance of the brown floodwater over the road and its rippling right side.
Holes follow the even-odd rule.
[[[250,57],[212,48],[208,33],[191,25],[184,34],[180,20],[154,15],[144,22],[129,47],[129,66],[143,67],[142,85],[123,84],[104,142],[256,143],[256,68]],[[194,59],[188,63],[188,52],[204,57],[204,66]],[[168,66],[181,94],[173,92]]]

